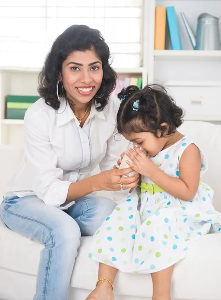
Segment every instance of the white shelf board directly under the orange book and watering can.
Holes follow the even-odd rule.
[[[154,50],[154,59],[221,60],[221,50]]]

